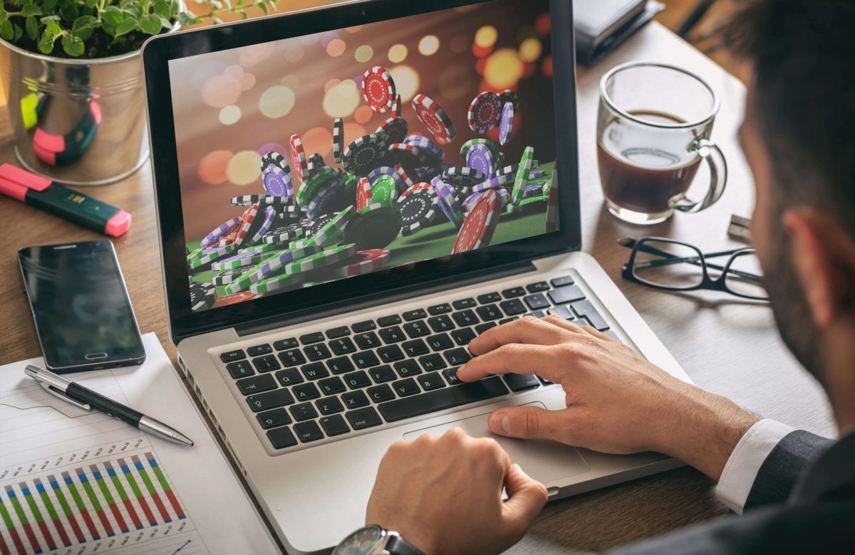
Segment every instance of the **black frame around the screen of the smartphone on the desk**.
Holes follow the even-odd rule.
[[[25,260],[32,260],[38,257],[41,260],[61,260],[68,259],[74,256],[89,256],[89,255],[105,255],[112,264],[114,272],[113,277],[119,282],[122,291],[122,301],[127,313],[130,314],[133,322],[133,330],[137,339],[137,345],[127,348],[117,348],[112,345],[104,346],[103,353],[107,353],[105,358],[94,360],[53,360],[49,357],[49,349],[44,348],[44,328],[47,323],[40,322],[36,313],[36,307],[33,304],[32,292],[27,288],[27,269]],[[69,242],[60,245],[41,245],[38,247],[25,247],[18,250],[18,266],[21,268],[21,277],[24,280],[24,289],[27,291],[27,301],[30,304],[30,312],[32,313],[32,322],[36,328],[36,336],[38,336],[38,346],[42,349],[44,355],[44,365],[51,371],[57,373],[78,372],[95,370],[98,368],[115,368],[124,365],[139,365],[145,359],[145,346],[143,338],[139,333],[139,324],[137,323],[136,314],[133,312],[131,298],[127,294],[125,286],[125,277],[121,273],[119,260],[115,255],[113,243],[106,239],[97,241],[84,242]]]

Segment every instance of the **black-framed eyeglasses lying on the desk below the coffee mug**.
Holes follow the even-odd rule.
[[[652,250],[658,251],[658,252],[652,252],[651,250],[644,250],[643,251],[643,252],[646,252],[647,254],[656,254],[657,256],[663,256],[663,259],[662,259],[663,261],[668,260],[669,258],[673,257],[673,258],[677,258],[677,259],[682,259],[681,262],[685,262],[687,264],[693,264],[693,262],[691,262],[690,260],[697,260],[698,263],[700,264],[700,268],[701,268],[701,282],[697,283],[695,285],[687,286],[687,287],[671,287],[671,286],[662,285],[659,283],[652,283],[652,282],[646,281],[645,279],[643,279],[641,277],[636,276],[635,272],[634,272],[635,255],[638,254],[640,247],[643,246],[645,244],[645,242],[652,242],[652,241],[669,242],[671,244],[679,245],[681,247],[691,248],[695,252],[697,252],[699,254],[699,256],[692,257],[691,259],[686,259],[686,257],[679,257],[679,256],[676,256],[675,254],[666,253],[665,251],[661,251],[657,248],[652,248]],[[703,252],[701,252],[700,248],[697,248],[694,245],[691,245],[687,242],[675,241],[673,239],[666,239],[664,237],[641,237],[640,239],[635,240],[634,245],[633,245],[633,251],[632,251],[632,253],[629,254],[629,260],[627,260],[626,264],[623,265],[623,268],[621,270],[621,275],[624,279],[626,279],[630,282],[638,283],[640,285],[644,285],[645,287],[650,287],[652,289],[659,289],[659,290],[663,290],[663,291],[711,290],[711,291],[721,291],[722,293],[728,293],[728,295],[734,295],[737,297],[741,297],[743,299],[750,299],[752,301],[769,301],[768,296],[759,297],[757,295],[745,295],[743,293],[738,293],[738,292],[728,288],[728,284],[727,284],[728,273],[745,274],[745,275],[751,276],[752,278],[756,278],[758,280],[758,282],[762,279],[759,276],[754,276],[753,274],[748,274],[747,272],[740,272],[738,270],[731,270],[731,268],[730,268],[730,266],[733,264],[734,260],[736,260],[740,256],[744,256],[745,254],[756,254],[756,253],[757,253],[757,250],[755,248],[745,247],[745,248],[736,248],[732,251],[726,251],[726,252],[721,252],[721,253],[704,254]],[[729,254],[729,258],[728,258],[727,263],[725,263],[724,266],[711,265],[706,260],[707,258],[712,258],[714,256],[724,256],[726,254]],[[675,263],[677,263],[677,262],[675,262]],[[660,266],[660,265],[657,265],[657,266]],[[666,265],[661,265],[661,266],[666,266]],[[720,271],[722,272],[722,275],[713,279],[712,277],[710,277],[710,273],[707,272],[708,267],[712,267],[713,269],[721,269]]]

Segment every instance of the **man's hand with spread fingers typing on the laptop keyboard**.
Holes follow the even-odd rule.
[[[731,401],[672,377],[632,349],[563,318],[521,318],[469,342],[464,382],[489,374],[537,374],[560,383],[567,408],[493,412],[493,433],[543,438],[602,453],[657,451],[718,480],[730,453],[758,421]]]

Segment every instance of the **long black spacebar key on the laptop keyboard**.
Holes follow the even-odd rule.
[[[377,409],[383,418],[386,418],[386,422],[395,422],[404,418],[428,414],[428,412],[441,411],[452,406],[492,399],[506,393],[508,393],[508,388],[504,387],[502,380],[498,376],[493,376],[480,382],[463,383],[452,388],[437,389],[421,395],[380,403]]]

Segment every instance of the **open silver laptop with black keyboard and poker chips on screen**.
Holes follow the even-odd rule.
[[[170,337],[289,552],[363,525],[393,442],[564,407],[457,380],[495,325],[557,314],[689,381],[580,251],[572,29],[561,0],[372,0],[144,46]],[[551,499],[679,465],[498,441]]]

